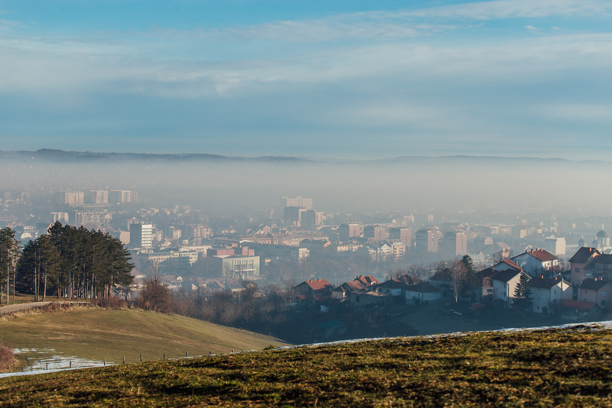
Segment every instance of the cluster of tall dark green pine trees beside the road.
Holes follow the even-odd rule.
[[[56,222],[22,248],[13,229],[0,229],[0,303],[9,302],[10,287],[35,301],[109,297],[132,283],[130,259],[121,241],[102,231]]]

